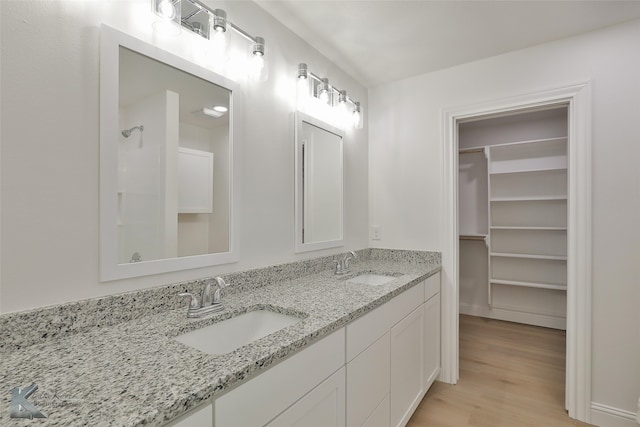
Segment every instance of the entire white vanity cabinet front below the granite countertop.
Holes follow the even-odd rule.
[[[402,427],[439,373],[437,273],[168,425]]]

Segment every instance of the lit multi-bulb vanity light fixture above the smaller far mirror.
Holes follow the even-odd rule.
[[[309,89],[309,85],[313,90]],[[309,96],[318,98],[320,101],[339,110],[342,123],[353,124],[357,129],[362,129],[362,107],[359,101],[351,99],[346,90],[340,90],[329,84],[329,79],[320,77],[311,71],[307,64],[298,64],[298,98]],[[337,95],[337,97],[334,97]],[[337,99],[337,102],[335,102]]]

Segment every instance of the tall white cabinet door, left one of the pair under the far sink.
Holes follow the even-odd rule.
[[[391,328],[391,425],[404,426],[424,394],[424,307]]]

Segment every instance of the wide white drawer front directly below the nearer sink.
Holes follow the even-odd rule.
[[[344,328],[215,400],[215,426],[263,426],[340,369]],[[282,387],[274,387],[281,384]]]

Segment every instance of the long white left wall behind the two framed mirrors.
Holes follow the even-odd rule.
[[[101,283],[98,279],[99,25],[151,38],[148,0],[0,2],[2,306],[13,312],[367,247],[367,130],[345,144],[346,246],[294,254],[293,109],[297,64],[363,104],[364,87],[252,2],[219,2],[267,43],[269,79],[241,83],[240,261]],[[193,35],[187,35],[195,37]],[[180,36],[180,37],[184,37]],[[190,58],[178,38],[171,45]],[[181,48],[182,47],[182,48]],[[248,44],[247,44],[248,49]],[[115,88],[114,88],[115,90]]]

